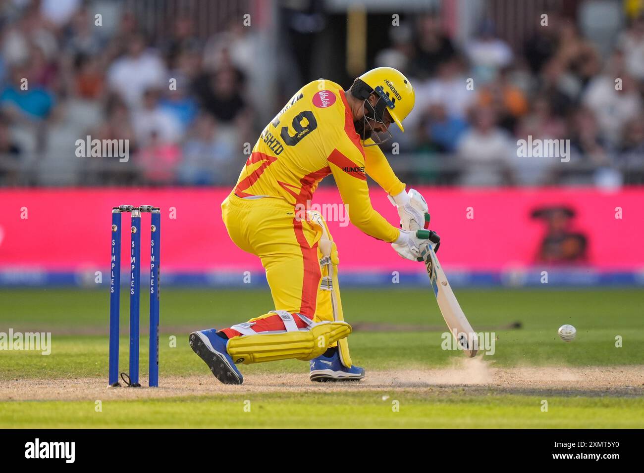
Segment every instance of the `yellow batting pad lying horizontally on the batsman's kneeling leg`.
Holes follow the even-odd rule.
[[[346,322],[325,321],[308,330],[233,337],[227,349],[235,363],[246,365],[290,358],[312,360],[350,333],[351,326]]]

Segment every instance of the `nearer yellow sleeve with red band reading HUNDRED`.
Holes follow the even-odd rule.
[[[355,227],[374,238],[395,241],[400,232],[374,210],[366,184],[365,156],[349,140],[343,140],[328,156],[337,189]]]

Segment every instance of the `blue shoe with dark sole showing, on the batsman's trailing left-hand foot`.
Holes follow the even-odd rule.
[[[215,378],[223,384],[242,384],[242,373],[226,350],[227,339],[217,335],[214,328],[190,334],[190,346],[204,360]]]

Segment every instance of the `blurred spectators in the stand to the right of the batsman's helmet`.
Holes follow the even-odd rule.
[[[547,21],[520,54],[490,21],[460,46],[437,15],[392,28],[392,46],[376,61],[408,71],[415,86],[405,125],[415,133],[395,137],[422,153],[414,172],[460,185],[644,183],[644,15],[627,22],[605,57],[575,19],[550,12]],[[518,157],[527,136],[570,140],[570,162]]]

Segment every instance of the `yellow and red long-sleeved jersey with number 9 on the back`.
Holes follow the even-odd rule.
[[[265,127],[234,193],[241,198],[272,196],[307,205],[328,174],[333,174],[355,227],[384,241],[397,239],[398,228],[371,205],[366,176],[392,195],[405,185],[379,147],[361,144],[345,92],[330,80],[316,80],[299,89]]]

